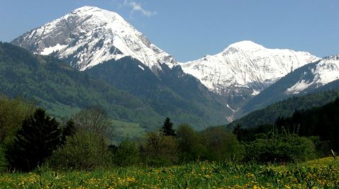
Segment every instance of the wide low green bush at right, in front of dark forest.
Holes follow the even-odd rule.
[[[244,146],[245,161],[282,163],[306,161],[316,156],[313,142],[296,134],[281,134],[272,138],[255,139]]]

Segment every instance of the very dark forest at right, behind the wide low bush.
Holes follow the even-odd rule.
[[[285,133],[308,137],[318,154],[330,155],[330,149],[339,150],[339,99],[309,110],[295,110],[289,117],[279,117],[273,124],[244,128],[237,125],[233,133],[239,141],[250,142],[258,137]]]

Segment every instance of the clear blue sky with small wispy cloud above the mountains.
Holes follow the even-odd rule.
[[[240,40],[318,57],[339,54],[338,0],[1,1],[0,40],[9,42],[86,5],[119,13],[179,62]]]

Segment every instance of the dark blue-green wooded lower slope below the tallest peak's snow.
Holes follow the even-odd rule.
[[[187,122],[198,130],[227,122],[231,111],[221,97],[211,93],[199,80],[180,67],[162,65],[159,76],[138,60],[124,57],[85,71],[96,79],[143,99],[160,115],[174,122]]]

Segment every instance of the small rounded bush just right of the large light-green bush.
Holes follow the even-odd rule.
[[[129,140],[121,142],[114,155],[115,162],[119,166],[130,166],[139,161],[139,149],[134,142]]]

